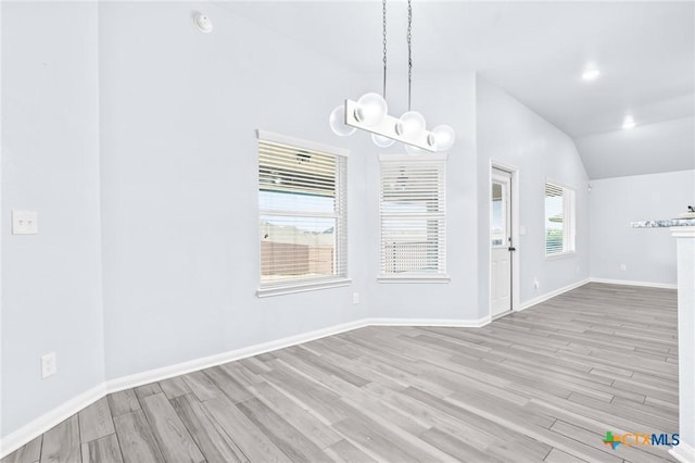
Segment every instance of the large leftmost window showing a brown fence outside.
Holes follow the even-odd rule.
[[[349,283],[346,153],[258,130],[258,296]]]

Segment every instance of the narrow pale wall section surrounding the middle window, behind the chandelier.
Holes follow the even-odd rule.
[[[389,112],[407,110],[405,74],[390,73]],[[429,75],[418,73],[414,80],[413,110],[425,116],[428,127],[450,124],[456,141],[446,164],[446,265],[451,281],[396,284],[378,283],[379,275],[379,152],[403,153],[393,146],[380,150],[376,146],[361,153],[367,159],[366,182],[368,238],[362,249],[367,262],[369,290],[366,301],[375,317],[403,320],[476,321],[478,315],[476,274],[476,93],[475,74]],[[396,143],[400,145],[400,143]],[[427,154],[421,154],[427,155]]]

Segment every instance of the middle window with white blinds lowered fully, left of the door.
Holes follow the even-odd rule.
[[[380,280],[447,280],[446,155],[382,154]]]

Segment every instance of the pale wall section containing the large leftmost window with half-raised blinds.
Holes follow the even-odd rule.
[[[328,114],[363,78],[224,5],[205,4],[214,30],[201,34],[199,7],[100,5],[108,379],[367,315],[352,304],[370,232],[359,175],[349,177],[352,287],[256,298],[253,225],[255,129],[358,148]],[[349,171],[364,159],[354,151]]]

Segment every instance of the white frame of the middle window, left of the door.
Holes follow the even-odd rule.
[[[446,153],[428,153],[420,157],[409,154],[379,154],[379,283],[448,283],[451,280],[446,268]],[[434,164],[438,173],[438,185],[434,195],[438,197],[438,210],[431,213],[432,218],[437,220],[437,262],[438,271],[422,272],[409,271],[399,273],[386,273],[387,267],[384,261],[384,167],[407,168],[408,166],[418,166]],[[389,213],[388,217],[396,217],[397,213]],[[427,214],[425,214],[427,216]],[[403,213],[404,218],[408,217],[408,213]],[[421,217],[418,217],[421,218]],[[428,237],[429,238],[429,237]]]

